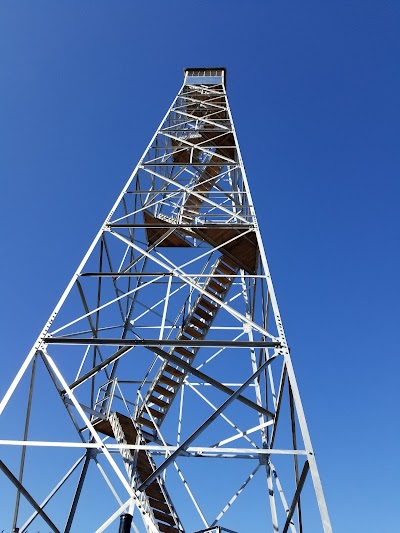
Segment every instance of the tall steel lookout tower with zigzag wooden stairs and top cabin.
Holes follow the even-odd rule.
[[[1,400],[14,531],[332,531],[226,72],[184,74]]]

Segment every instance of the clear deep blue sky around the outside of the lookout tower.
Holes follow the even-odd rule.
[[[394,0],[3,0],[0,394],[183,67],[226,66],[334,530],[394,531],[399,59]]]

